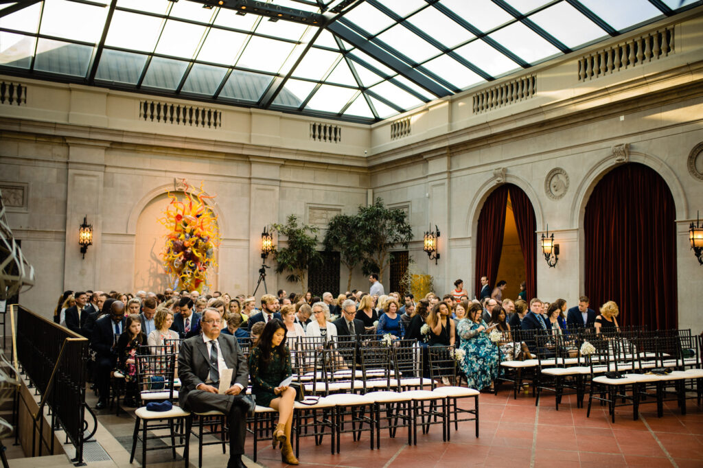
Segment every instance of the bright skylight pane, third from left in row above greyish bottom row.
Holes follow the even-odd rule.
[[[152,52],[159,38],[163,21],[153,16],[115,11],[112,14],[105,45]]]

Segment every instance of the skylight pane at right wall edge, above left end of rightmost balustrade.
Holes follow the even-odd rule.
[[[566,2],[535,13],[530,16],[530,19],[569,48],[576,48],[586,42],[607,36],[595,22]]]

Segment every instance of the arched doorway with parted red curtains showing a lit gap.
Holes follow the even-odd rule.
[[[506,183],[494,190],[479,214],[476,236],[475,291],[481,277],[494,287],[505,280],[503,297],[517,299],[520,282],[527,283],[527,297],[537,294],[536,220],[529,197],[518,186]],[[499,277],[499,273],[501,278]]]

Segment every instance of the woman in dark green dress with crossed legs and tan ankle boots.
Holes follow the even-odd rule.
[[[266,323],[249,355],[249,375],[257,405],[268,406],[278,411],[278,425],[273,431],[273,446],[280,442],[281,460],[288,464],[298,464],[290,446],[295,389],[280,386],[280,383],[292,374],[290,351],[288,346],[285,346],[285,331],[285,325],[278,318]]]

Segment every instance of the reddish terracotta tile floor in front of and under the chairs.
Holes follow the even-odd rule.
[[[550,394],[541,398],[539,408],[527,394],[519,394],[517,400],[507,390],[498,396],[482,394],[479,438],[474,435],[473,422],[460,423],[458,431],[452,430],[449,443],[441,440],[439,425],[432,427],[430,434],[418,432],[417,446],[406,444],[406,429],[399,429],[394,439],[384,432],[381,450],[370,450],[368,433],[362,435],[361,441],[344,434],[341,453],[332,455],[329,437],[321,446],[315,446],[314,438],[307,437],[301,439],[300,462],[304,467],[360,468],[703,467],[703,408],[695,400],[688,401],[685,416],[673,402],[665,403],[662,418],[657,418],[654,404],[641,406],[638,421],[632,420],[631,408],[620,408],[612,424],[605,408],[594,403],[591,417],[587,418],[586,409],[576,408],[575,400],[572,405],[572,398],[565,396],[556,411]],[[120,419],[129,421],[124,415]],[[115,429],[109,423],[105,426],[113,435],[123,436],[131,424],[115,425]],[[197,466],[197,450],[194,443],[191,466]],[[205,447],[207,460],[221,457],[226,462],[219,450],[217,446]],[[252,437],[247,435],[247,457],[252,457],[252,452]],[[167,454],[162,458],[157,453],[150,454],[149,460],[167,462]],[[266,467],[285,467],[278,450],[271,449],[270,441],[259,442],[257,458]]]

